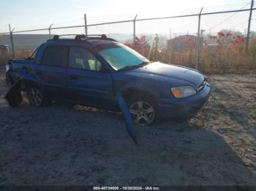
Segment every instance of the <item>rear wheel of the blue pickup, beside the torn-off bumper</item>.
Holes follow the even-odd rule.
[[[47,106],[48,101],[45,101],[45,97],[38,87],[29,87],[27,90],[27,97],[29,104],[32,106]]]

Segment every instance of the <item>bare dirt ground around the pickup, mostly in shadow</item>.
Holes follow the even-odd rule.
[[[187,122],[138,128],[121,114],[7,105],[0,74],[0,186],[256,185],[256,75],[210,75],[211,98]]]

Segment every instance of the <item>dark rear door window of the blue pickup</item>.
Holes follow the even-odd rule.
[[[67,67],[68,55],[68,47],[47,47],[42,58],[42,64]]]

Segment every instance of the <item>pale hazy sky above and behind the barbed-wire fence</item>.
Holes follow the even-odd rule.
[[[90,24],[132,19],[136,14],[138,18],[191,14],[199,12],[200,7],[206,7],[205,12],[241,9],[249,7],[249,0],[1,0],[0,31],[8,31],[9,23],[16,31],[47,28],[51,23],[53,26],[83,25],[85,13]],[[202,28],[207,32],[216,32],[222,28],[244,31],[248,17],[248,12],[205,16],[202,18]],[[169,34],[171,30],[174,35],[193,34],[197,30],[197,17],[138,22],[136,26],[138,33]],[[253,20],[252,30],[256,29],[255,26],[256,20]],[[132,34],[132,30],[132,23],[89,27],[89,33],[94,34]],[[75,28],[53,33],[83,33],[83,31],[83,28]],[[39,34],[47,32],[43,31]]]

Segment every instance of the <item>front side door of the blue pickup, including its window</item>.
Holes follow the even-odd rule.
[[[70,47],[67,76],[69,92],[75,102],[108,109],[116,107],[112,75],[90,50]]]

